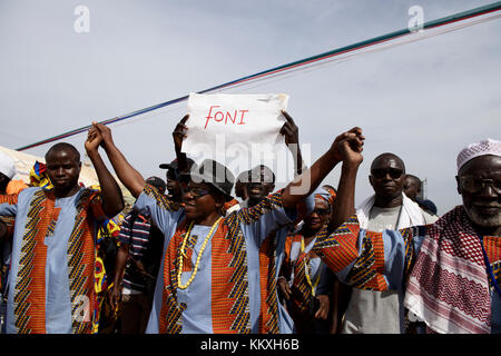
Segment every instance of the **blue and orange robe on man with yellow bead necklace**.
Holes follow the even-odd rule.
[[[259,278],[264,277],[259,273],[259,247],[274,229],[292,222],[294,217],[289,215],[295,214],[285,212],[282,195],[271,195],[258,205],[234,211],[222,220],[210,238],[210,254],[204,254],[200,260],[200,264],[212,266],[206,271],[207,280],[196,276],[198,287],[190,285],[187,288],[189,297],[186,303],[178,301],[181,291],[177,288],[179,249],[187,229],[184,209],[149,186],[145,187],[135,208],[151,216],[166,237],[160,278],[157,279],[161,283],[157,281],[147,333],[257,333],[259,300],[268,299],[259,288]],[[185,273],[195,265],[195,243],[188,243],[186,257],[183,257]],[[191,324],[191,329],[187,330],[184,315],[189,314],[188,308],[196,303],[207,304],[207,308],[203,315],[190,317],[195,325]],[[207,319],[208,323],[203,322]]]

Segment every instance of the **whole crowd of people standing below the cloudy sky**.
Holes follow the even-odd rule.
[[[284,116],[296,177],[278,190],[267,166],[235,178],[189,159],[188,116],[173,132],[176,157],[159,165],[165,180],[145,179],[96,122],[85,149],[99,186],[79,184],[69,144],[52,146],[29,184],[0,155],[2,332],[500,333],[501,142],[459,152],[462,205],[444,215],[391,152],[372,161],[374,194],[355,208],[362,129],[306,167]],[[325,178],[338,165],[334,188]]]

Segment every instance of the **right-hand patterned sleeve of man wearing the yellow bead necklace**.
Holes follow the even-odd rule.
[[[274,230],[293,222],[297,217],[296,209],[284,209],[282,194],[275,192],[262,199],[257,205],[235,212],[242,229],[261,245]]]

